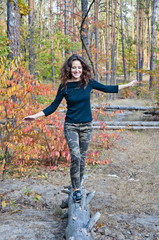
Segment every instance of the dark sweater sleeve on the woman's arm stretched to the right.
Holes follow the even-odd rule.
[[[106,93],[118,93],[118,85],[104,85],[96,80],[91,80],[91,84],[93,89]]]

